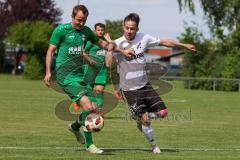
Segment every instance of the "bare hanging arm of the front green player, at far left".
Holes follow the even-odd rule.
[[[52,65],[52,57],[55,53],[56,46],[49,45],[46,55],[46,75],[44,77],[44,84],[47,87],[50,87],[50,79],[51,79],[51,65]]]

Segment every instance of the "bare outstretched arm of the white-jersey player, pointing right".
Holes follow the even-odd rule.
[[[163,45],[166,47],[182,47],[190,51],[194,51],[194,52],[197,51],[196,47],[193,44],[181,43],[173,39],[161,39],[160,45]]]

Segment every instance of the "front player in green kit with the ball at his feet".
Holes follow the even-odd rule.
[[[72,22],[59,25],[54,30],[47,50],[46,75],[44,78],[45,85],[49,87],[52,57],[55,51],[57,51],[57,82],[71,100],[83,109],[82,116],[70,126],[70,130],[81,143],[84,143],[85,140],[79,132],[79,128],[81,125],[84,125],[84,120],[89,110],[96,108],[93,90],[83,81],[83,50],[87,41],[97,44],[101,48],[106,48],[110,52],[114,49],[112,43],[99,39],[89,27],[85,26],[87,17],[88,9],[84,5],[77,5],[72,11]],[[121,50],[121,52],[125,55],[133,54],[131,50]],[[92,139],[91,132],[84,132],[84,135],[86,139]],[[90,153],[103,152],[93,142],[87,142],[87,151]]]

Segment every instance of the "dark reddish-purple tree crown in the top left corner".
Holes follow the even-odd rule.
[[[2,0],[0,1],[0,40],[8,27],[21,21],[59,22],[61,10],[53,0]]]

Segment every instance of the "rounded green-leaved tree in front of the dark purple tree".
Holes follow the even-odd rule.
[[[22,50],[27,50],[29,55],[34,55],[43,64],[43,57],[45,56],[48,47],[49,38],[54,27],[48,22],[19,22],[9,28],[6,43],[15,44],[12,47],[19,48],[14,51],[15,67],[13,73],[18,73],[18,65],[22,55]],[[31,66],[35,67],[35,66]]]

